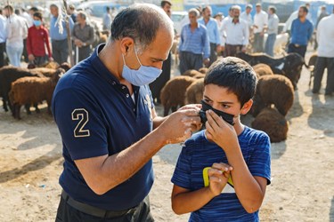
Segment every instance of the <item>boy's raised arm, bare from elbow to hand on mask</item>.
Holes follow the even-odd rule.
[[[207,138],[224,149],[228,163],[233,168],[233,186],[240,203],[248,213],[257,211],[265,197],[266,178],[251,175],[243,159],[237,134],[233,127],[225,123],[221,117],[211,110],[207,112],[207,117]],[[224,137],[222,138],[221,135],[224,135]]]

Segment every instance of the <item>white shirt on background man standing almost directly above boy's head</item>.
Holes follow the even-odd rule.
[[[220,36],[226,37],[226,44],[248,45],[249,28],[247,21],[239,19],[239,22],[234,24],[232,20],[229,18],[223,21],[223,33]]]

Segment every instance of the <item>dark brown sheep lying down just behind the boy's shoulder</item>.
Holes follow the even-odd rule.
[[[276,109],[265,107],[251,123],[259,131],[265,131],[272,143],[281,142],[288,137],[289,124]]]

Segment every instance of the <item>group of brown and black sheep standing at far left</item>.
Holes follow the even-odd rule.
[[[31,69],[11,66],[0,68],[0,97],[3,98],[4,111],[10,109],[12,116],[20,119],[21,106],[26,108],[27,114],[30,114],[31,105],[39,113],[38,104],[46,100],[51,114],[54,88],[69,68],[67,63],[59,66],[54,62]]]

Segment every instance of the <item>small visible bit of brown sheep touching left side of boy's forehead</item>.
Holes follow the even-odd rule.
[[[191,85],[185,91],[185,104],[200,103],[200,100],[203,99],[203,91],[204,91],[203,78],[196,80],[194,83],[191,83]]]

